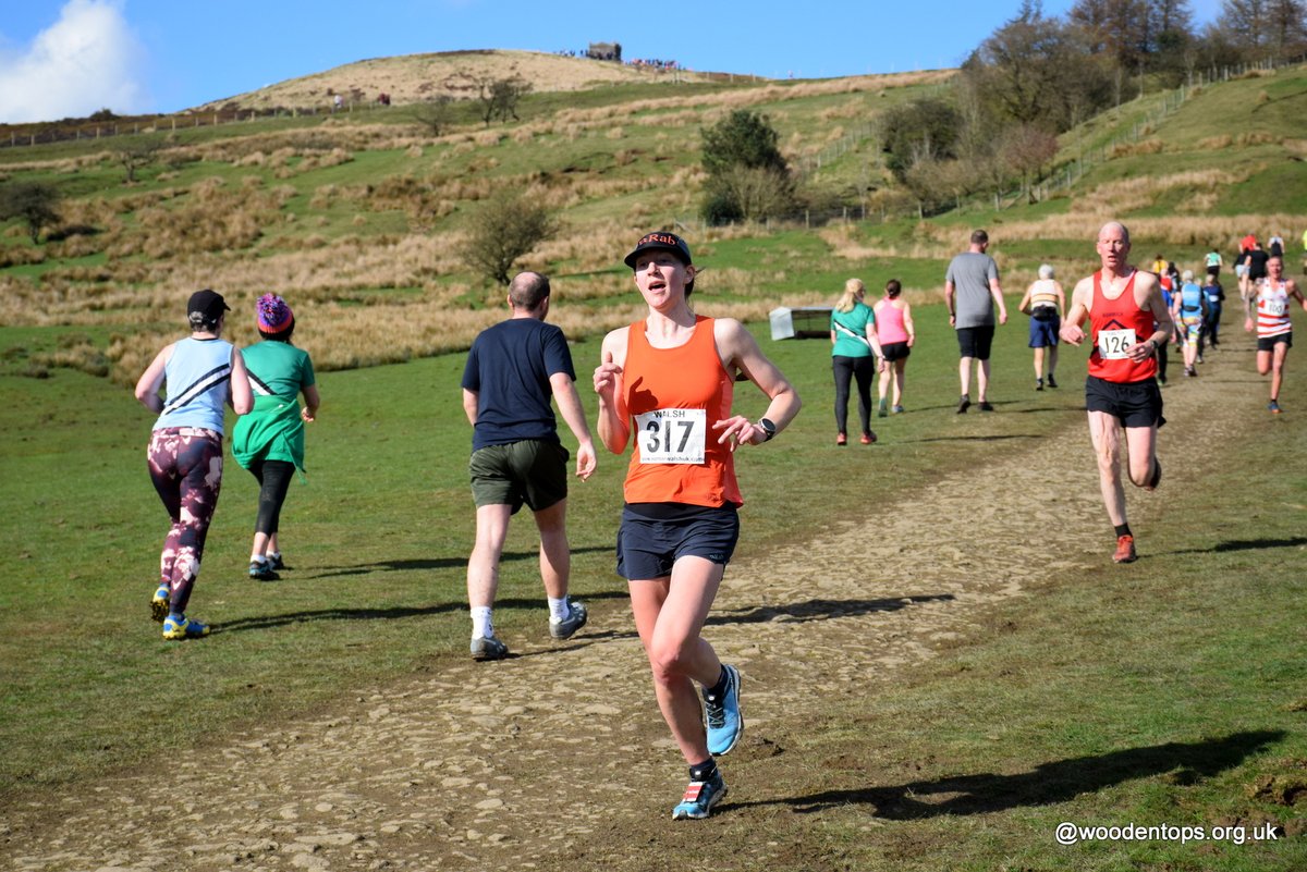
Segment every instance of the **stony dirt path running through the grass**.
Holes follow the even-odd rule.
[[[1247,341],[1231,338],[1199,380],[1175,379],[1172,362],[1163,457],[1182,439],[1210,456],[1260,411]],[[817,718],[825,693],[891,680],[1005,600],[1102,565],[1111,530],[1087,439],[1077,423],[1014,440],[1006,459],[914,493],[884,514],[897,546],[868,548],[865,529],[848,525],[732,564],[707,632],[745,676],[748,730],[728,779],[738,757],[771,753],[770,719]],[[1166,493],[1163,482],[1158,495],[1128,495],[1144,553]],[[521,640],[503,663],[406,677],[339,717],[227,738],[167,783],[123,777],[10,809],[0,865],[515,869],[593,858],[614,832],[669,826],[682,768],[629,612],[603,610],[576,644],[546,641]],[[584,787],[596,773],[601,792]],[[727,804],[763,787],[732,785]]]

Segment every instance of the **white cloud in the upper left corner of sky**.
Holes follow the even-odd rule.
[[[142,112],[144,61],[122,0],[68,0],[30,46],[0,55],[0,121]]]

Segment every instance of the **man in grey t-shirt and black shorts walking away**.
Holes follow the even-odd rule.
[[[971,234],[971,247],[953,258],[944,278],[944,302],[949,307],[949,325],[958,332],[958,377],[962,381],[962,399],[958,414],[971,406],[971,360],[976,367],[980,411],[993,411],[989,405],[989,347],[993,345],[993,307],[999,305],[999,324],[1008,322],[1008,307],[1002,303],[999,285],[999,265],[985,253],[989,234],[978,230]]]

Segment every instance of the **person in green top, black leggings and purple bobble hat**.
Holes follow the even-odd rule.
[[[308,352],[290,345],[295,316],[286,302],[264,294],[256,304],[256,317],[263,342],[244,349],[254,411],[237,422],[231,456],[259,479],[250,577],[272,581],[277,569],[286,568],[277,542],[281,506],[295,470],[305,469],[305,424],[316,418],[319,397],[314,362]]]

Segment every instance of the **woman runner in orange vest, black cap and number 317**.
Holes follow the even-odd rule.
[[[702,818],[727,792],[715,756],[744,730],[740,674],[701,636],[740,529],[735,452],[782,432],[800,402],[744,325],[690,309],[695,270],[682,239],[648,234],[626,265],[648,315],[604,337],[597,429],[614,454],[635,444],[617,570],[629,580],[659,708],[690,765],[672,817]],[[731,413],[737,372],[771,399],[759,420]]]

